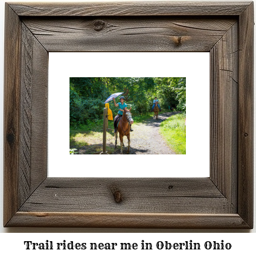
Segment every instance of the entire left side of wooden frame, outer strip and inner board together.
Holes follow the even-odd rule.
[[[47,176],[48,126],[48,52],[8,5],[6,15],[4,223]]]

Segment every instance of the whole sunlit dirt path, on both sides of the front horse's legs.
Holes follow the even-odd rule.
[[[149,118],[146,121],[143,121],[139,124],[132,125],[134,129],[131,132],[131,146],[129,154],[175,154],[167,146],[162,136],[159,134],[160,123],[167,119],[169,116],[176,115],[179,112],[159,112],[158,119]],[[109,127],[112,128],[112,127]],[[97,137],[85,137],[84,138],[88,146],[77,147],[79,154],[93,154],[96,152],[102,151],[102,133]],[[127,153],[128,140],[127,137],[124,137],[123,153]],[[120,140],[118,137],[117,148],[115,148],[115,135],[114,133],[107,132],[106,140],[107,151],[110,154],[120,154]]]

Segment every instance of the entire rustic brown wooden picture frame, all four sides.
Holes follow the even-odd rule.
[[[244,1],[7,3],[4,226],[252,229],[253,27]],[[210,52],[210,178],[48,178],[48,52],[94,51]]]

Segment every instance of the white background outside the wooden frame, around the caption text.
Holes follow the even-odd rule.
[[[15,2],[15,1],[8,1],[8,2]],[[20,1],[23,2],[23,1]],[[26,1],[29,2],[29,1]],[[33,1],[36,2],[36,1]],[[43,2],[41,0],[41,2]],[[56,1],[52,1],[56,2]],[[62,1],[65,2],[65,1]],[[78,2],[78,0],[77,0]],[[232,1],[230,1],[232,2]],[[0,27],[0,122],[2,124],[2,109],[3,109],[3,59],[4,59],[4,1],[0,3],[0,20],[1,20],[1,27]],[[0,127],[0,132],[2,134],[2,125]],[[0,187],[2,188],[2,155],[3,155],[3,142],[2,136],[0,137],[0,169],[1,169],[1,176],[0,176]],[[254,178],[255,179],[255,178]],[[256,181],[254,182],[254,184]],[[0,191],[0,219],[2,220],[2,189]],[[256,198],[256,197],[254,197]],[[255,210],[254,210],[255,215]],[[254,218],[255,219],[255,218]],[[192,239],[193,242],[200,242],[204,243],[205,241],[220,241],[223,239],[225,242],[230,242],[232,244],[232,249],[229,251],[175,251],[175,254],[180,255],[216,255],[216,254],[223,254],[223,255],[234,255],[235,253],[239,254],[248,254],[251,255],[255,252],[255,241],[256,241],[256,229],[252,230],[170,230],[170,229],[67,229],[67,228],[4,228],[0,224],[0,252],[2,255],[7,254],[20,254],[20,255],[70,255],[70,252],[67,251],[29,251],[24,249],[23,241],[33,241],[33,242],[44,242],[46,239],[52,240],[54,242],[59,242],[59,240],[66,239],[67,241],[74,241],[74,242],[137,242],[140,243],[142,239],[146,242],[157,242],[157,241],[170,241],[170,242],[184,242]],[[9,232],[9,233],[7,233]],[[23,233],[23,234],[15,234],[15,233]],[[28,233],[28,232],[35,232],[35,233]],[[50,232],[50,233],[46,233]],[[56,233],[59,232],[59,233]],[[75,232],[75,233],[73,233]],[[80,232],[82,234],[80,234]],[[97,233],[100,232],[100,233]],[[108,235],[102,232],[109,232]],[[115,233],[121,232],[122,234]],[[131,233],[135,232],[135,233]],[[150,233],[138,233],[138,232],[150,232]],[[178,233],[176,233],[178,232]],[[193,233],[191,233],[193,232]],[[227,233],[232,232],[232,233]],[[94,234],[97,233],[97,234]],[[35,253],[36,252],[36,253]],[[72,251],[72,254],[99,254],[99,251]],[[103,251],[104,254],[114,254],[120,251]],[[102,252],[102,253],[103,253]],[[173,254],[173,251],[159,251],[159,250],[152,250],[152,251],[132,251],[132,254],[141,255],[145,253],[148,255],[159,255],[159,254],[166,254],[170,255]],[[131,251],[122,251],[122,254],[131,254]]]

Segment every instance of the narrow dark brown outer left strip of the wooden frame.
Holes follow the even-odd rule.
[[[4,59],[4,224],[18,210],[18,155],[20,129],[21,23],[5,6]],[[15,31],[15,33],[14,33]]]

